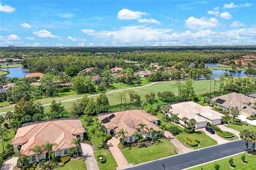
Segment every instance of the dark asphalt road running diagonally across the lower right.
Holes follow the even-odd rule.
[[[252,147],[249,143],[249,149]],[[233,154],[237,154],[245,151],[245,143],[242,140],[234,141],[230,143],[225,143],[222,145],[217,145],[215,147],[209,147],[206,149],[199,149],[193,152],[188,152],[185,154],[177,154],[170,158],[165,158],[162,160],[156,160],[154,162],[149,162],[145,164],[138,164],[137,166],[132,166],[126,168],[125,170],[163,170],[165,165],[165,170],[181,170],[184,168],[189,168],[191,166],[199,165],[205,162],[216,160],[219,158],[224,158]],[[213,167],[214,168],[214,167]]]

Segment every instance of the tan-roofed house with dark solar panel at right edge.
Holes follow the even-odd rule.
[[[217,106],[225,110],[235,107],[241,115],[246,117],[256,116],[256,109],[253,106],[256,99],[250,98],[241,93],[230,93],[223,96],[212,98],[212,101],[217,103]]]

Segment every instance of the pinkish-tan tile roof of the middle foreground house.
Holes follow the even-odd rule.
[[[149,115],[146,111],[140,109],[132,109],[126,111],[118,111],[112,113],[115,115],[110,122],[103,123],[106,128],[115,128],[115,131],[118,132],[120,129],[124,129],[124,131],[128,132],[126,136],[132,136],[137,129],[139,128],[140,123],[144,123],[147,125],[147,128],[150,129],[151,127],[156,131],[161,131],[157,125],[152,123],[152,120],[158,120],[156,116]],[[109,117],[112,114],[102,115],[99,116],[99,121],[102,121],[106,117]],[[151,121],[150,121],[151,120]],[[144,131],[147,133],[148,131]]]

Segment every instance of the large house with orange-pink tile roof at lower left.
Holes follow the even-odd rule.
[[[35,155],[31,150],[34,146],[55,143],[52,150],[54,156],[66,156],[68,150],[75,147],[72,139],[80,137],[84,140],[84,127],[81,120],[53,120],[20,127],[12,139],[14,152],[21,150],[27,156]],[[40,154],[39,160],[46,158],[46,152]],[[37,156],[32,156],[29,163],[38,162]]]

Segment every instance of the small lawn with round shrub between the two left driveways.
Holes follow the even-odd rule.
[[[109,149],[99,149],[94,152],[94,156],[96,158],[97,155],[104,154],[106,156],[107,162],[105,164],[101,164],[98,162],[98,166],[100,170],[116,170],[117,163],[111,154]],[[97,158],[96,158],[97,161]]]

